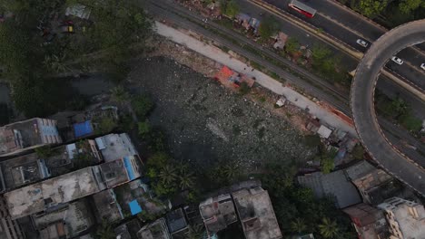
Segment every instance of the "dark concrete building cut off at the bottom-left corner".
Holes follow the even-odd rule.
[[[7,210],[5,198],[0,196],[0,238],[21,239],[25,238],[21,226],[13,220]]]

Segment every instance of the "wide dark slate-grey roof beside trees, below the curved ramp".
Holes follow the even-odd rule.
[[[311,188],[316,197],[334,196],[336,206],[340,208],[361,203],[359,192],[342,170],[330,174],[316,172],[297,179],[301,186]]]

